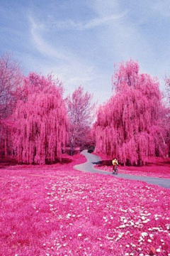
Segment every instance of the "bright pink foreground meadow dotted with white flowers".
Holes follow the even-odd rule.
[[[169,189],[73,160],[0,169],[0,255],[170,255]]]

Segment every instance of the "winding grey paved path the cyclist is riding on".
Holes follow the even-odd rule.
[[[110,171],[102,171],[99,169],[95,169],[93,163],[96,163],[98,161],[101,161],[100,156],[96,156],[94,154],[89,154],[87,150],[84,150],[81,152],[83,154],[87,161],[84,164],[78,164],[74,166],[74,169],[77,169],[79,171],[85,171],[85,172],[90,172],[93,174],[104,174],[104,175],[110,175]],[[114,175],[115,178],[126,178],[130,180],[135,180],[135,181],[145,181],[149,184],[157,185],[157,186],[162,186],[163,188],[170,188],[170,179],[169,178],[154,178],[154,177],[149,177],[149,176],[135,176],[135,175],[130,175],[130,174],[118,174]]]

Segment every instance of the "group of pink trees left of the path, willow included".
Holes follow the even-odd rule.
[[[0,156],[21,164],[61,161],[66,147],[91,143],[92,95],[79,86],[63,97],[52,75],[25,77],[6,53],[0,60]]]

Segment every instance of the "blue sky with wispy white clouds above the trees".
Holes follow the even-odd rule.
[[[29,72],[53,73],[65,95],[82,85],[98,104],[112,95],[114,64],[170,75],[169,0],[0,0],[0,54]]]

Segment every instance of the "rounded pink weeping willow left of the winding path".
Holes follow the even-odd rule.
[[[18,162],[45,164],[61,160],[67,142],[67,110],[59,80],[30,73],[13,119],[12,152]]]

